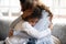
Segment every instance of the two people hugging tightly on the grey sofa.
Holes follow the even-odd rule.
[[[40,0],[20,0],[23,14],[12,22],[6,44],[54,44],[53,14]]]

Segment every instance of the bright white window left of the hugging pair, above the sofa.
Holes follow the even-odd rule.
[[[20,2],[19,0],[0,0],[0,13],[3,16],[12,16],[19,13],[20,10]],[[12,14],[12,13],[15,14]],[[16,14],[19,15],[19,14]]]

